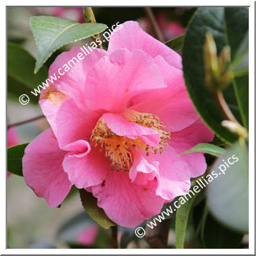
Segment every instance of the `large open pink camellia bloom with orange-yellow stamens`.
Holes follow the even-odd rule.
[[[49,76],[80,52],[60,54]],[[23,175],[50,207],[75,185],[92,192],[112,221],[133,227],[206,169],[202,153],[179,156],[213,140],[188,97],[181,57],[136,22],[123,23],[107,52],[77,62],[39,104],[52,129],[27,146]]]

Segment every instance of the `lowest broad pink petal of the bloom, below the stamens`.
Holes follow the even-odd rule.
[[[125,171],[109,171],[104,185],[92,188],[97,204],[118,225],[134,227],[160,212],[164,200],[155,196],[156,180],[134,184]]]

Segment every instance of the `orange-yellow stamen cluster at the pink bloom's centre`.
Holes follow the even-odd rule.
[[[131,139],[118,136],[100,118],[93,129],[90,143],[92,147],[100,147],[101,152],[105,151],[105,157],[108,157],[111,162],[111,170],[129,171],[133,164],[132,151],[135,147],[146,151],[147,156],[150,153],[162,154],[167,148],[167,140],[171,138],[171,133],[164,130],[166,126],[163,126],[163,123],[154,114],[129,111],[124,116],[130,122],[156,130],[160,135],[160,140],[156,147],[151,147],[141,138]]]

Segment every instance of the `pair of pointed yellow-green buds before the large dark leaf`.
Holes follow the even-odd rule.
[[[219,58],[213,35],[209,32],[205,35],[204,41],[204,70],[205,83],[209,89],[220,91],[225,89],[231,80],[229,71],[230,48],[225,46]]]

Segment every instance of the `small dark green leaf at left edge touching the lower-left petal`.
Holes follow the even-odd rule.
[[[7,171],[23,176],[23,155],[28,143],[7,148]]]

